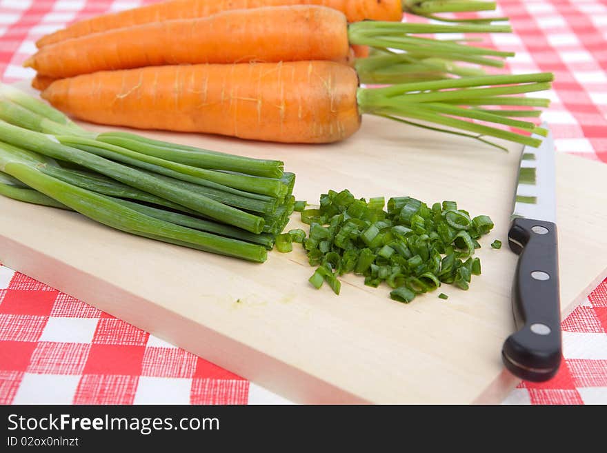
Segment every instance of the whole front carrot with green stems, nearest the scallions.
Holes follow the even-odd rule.
[[[508,117],[507,110],[496,114],[481,107],[547,106],[546,99],[509,95],[548,90],[552,79],[552,74],[521,74],[359,88],[357,73],[348,66],[292,61],[95,72],[54,81],[41,96],[79,119],[139,129],[330,143],[350,137],[360,127],[361,114],[368,113],[503,148],[485,137],[533,146],[540,141],[466,120],[545,133],[533,123]],[[529,117],[535,113],[529,110]]]

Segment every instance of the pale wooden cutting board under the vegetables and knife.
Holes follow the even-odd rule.
[[[519,146],[501,152],[372,117],[335,145],[146,135],[283,159],[297,173],[297,199],[348,188],[357,197],[456,200],[495,221],[477,250],[483,274],[468,292],[444,285],[447,301],[437,291],[397,303],[387,287],[354,275],[335,296],[308,284],[313,269],[299,245],[255,265],[2,197],[0,261],[297,402],[491,403],[517,383],[500,354],[514,328],[517,256],[506,234]],[[566,313],[606,276],[607,166],[559,154],[557,172]],[[291,228],[301,226],[293,219]],[[490,248],[494,239],[501,250]]]

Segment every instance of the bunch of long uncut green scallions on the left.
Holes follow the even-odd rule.
[[[283,162],[93,133],[0,84],[0,194],[158,241],[262,263],[293,211]]]

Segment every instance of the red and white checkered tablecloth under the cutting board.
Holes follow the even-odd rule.
[[[153,1],[0,0],[1,80],[34,75],[21,63],[41,35],[70,21],[144,3]],[[607,163],[607,0],[498,3],[497,14],[510,17],[515,30],[491,37],[493,46],[517,52],[508,69],[555,73],[548,92],[553,103],[543,118],[553,125],[557,150]],[[561,328],[559,374],[541,385],[521,383],[504,403],[607,403],[607,280]],[[286,402],[0,265],[0,404]]]

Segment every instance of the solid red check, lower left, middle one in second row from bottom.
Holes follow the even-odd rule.
[[[84,374],[141,375],[145,346],[90,345]]]

